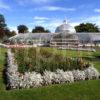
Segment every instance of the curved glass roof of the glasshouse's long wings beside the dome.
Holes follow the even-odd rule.
[[[75,33],[71,34],[74,37],[78,36],[78,39],[81,43],[91,43],[93,41],[100,41],[100,33]],[[50,41],[53,37],[58,36],[56,33],[25,33],[25,34],[18,34],[11,37],[9,40],[33,40],[33,39],[43,39]],[[61,34],[62,38],[63,34]]]

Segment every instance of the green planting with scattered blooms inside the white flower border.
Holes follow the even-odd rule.
[[[12,49],[12,52],[20,73],[36,71],[42,74],[45,70],[54,72],[56,69],[83,70],[89,67],[89,63],[80,58],[68,58],[46,48]]]

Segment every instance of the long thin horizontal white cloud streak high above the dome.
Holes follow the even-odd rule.
[[[75,11],[75,8],[64,8],[58,6],[45,6],[41,8],[35,8],[36,11]]]

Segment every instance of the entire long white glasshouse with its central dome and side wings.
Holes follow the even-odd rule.
[[[100,33],[76,33],[66,21],[58,26],[55,33],[26,33],[9,38],[10,44],[29,44],[51,47],[90,47],[100,46]]]

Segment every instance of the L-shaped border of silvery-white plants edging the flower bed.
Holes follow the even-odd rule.
[[[20,73],[14,57],[14,53],[8,50],[7,59],[7,82],[11,89],[39,87],[49,84],[72,83],[80,80],[99,79],[100,73],[91,65],[82,70],[72,71],[57,68],[55,71],[45,69],[42,73],[38,71],[26,71]]]

